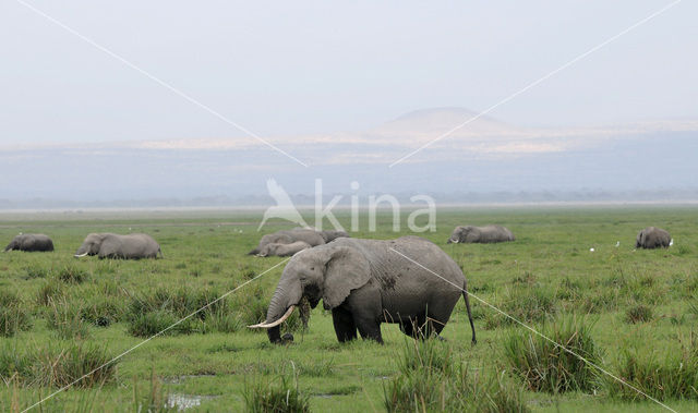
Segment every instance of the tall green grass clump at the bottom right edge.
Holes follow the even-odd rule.
[[[679,338],[679,351],[625,351],[619,357],[617,376],[645,393],[658,399],[698,400],[698,337]],[[643,398],[640,393],[611,378],[609,393],[623,399]]]

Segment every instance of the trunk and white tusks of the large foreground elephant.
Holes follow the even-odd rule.
[[[266,319],[264,323],[250,326],[251,328],[266,328],[269,341],[273,343],[281,342],[280,325],[291,315],[296,305],[301,301],[303,292],[298,278],[287,269],[284,270],[274,296],[269,302]]]

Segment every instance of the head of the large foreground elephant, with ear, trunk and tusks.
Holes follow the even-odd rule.
[[[323,300],[325,309],[340,305],[351,290],[369,282],[369,262],[356,248],[326,244],[296,254],[284,268],[264,323],[269,341],[280,343],[279,325],[305,296],[312,308]]]

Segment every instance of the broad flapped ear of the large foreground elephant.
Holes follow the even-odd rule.
[[[325,308],[340,305],[351,290],[363,287],[371,278],[369,260],[359,251],[344,245],[333,245],[329,250],[323,286]]]

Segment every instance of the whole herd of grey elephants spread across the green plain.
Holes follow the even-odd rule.
[[[501,226],[459,226],[447,243],[494,243],[515,241]],[[669,232],[655,227],[641,230],[636,247],[669,247]],[[8,251],[53,251],[45,234],[16,235]],[[395,240],[350,238],[344,231],[306,228],[277,231],[262,236],[249,254],[261,257],[291,256],[278,281],[266,318],[251,328],[267,330],[269,341],[292,341],[280,336],[280,325],[293,308],[308,302],[332,312],[337,340],[363,339],[383,342],[381,324],[398,324],[411,337],[438,335],[462,296],[472,321],[467,281],[459,266],[441,247],[425,239],[408,235]],[[74,256],[99,258],[163,257],[159,244],[147,234],[91,233]]]

